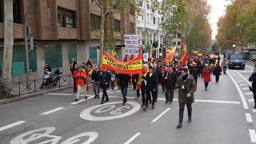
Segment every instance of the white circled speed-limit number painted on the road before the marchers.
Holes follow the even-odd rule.
[[[126,106],[122,106],[122,102],[108,102],[104,105],[92,106],[83,110],[80,118],[89,121],[107,121],[134,114],[140,108],[141,106],[137,102],[127,102]]]

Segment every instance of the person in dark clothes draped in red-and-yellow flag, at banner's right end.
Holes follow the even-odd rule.
[[[135,98],[135,100],[138,100],[138,98],[139,98],[138,91],[141,90],[142,91],[142,107],[143,108],[146,103],[146,80],[144,80],[144,78],[146,78],[146,74],[148,72],[149,72],[148,66],[146,64],[144,64],[142,66],[142,74],[139,74],[138,82],[137,82],[137,98]]]

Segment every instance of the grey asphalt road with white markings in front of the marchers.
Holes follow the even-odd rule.
[[[63,90],[0,106],[1,144],[247,144],[256,142],[253,95],[247,80],[252,72],[228,70],[220,82],[210,82],[204,90],[202,79],[193,104],[193,122],[187,123],[185,110],[182,129],[178,124],[178,94],[173,104],[165,104],[159,87],[154,110],[144,112],[141,100],[128,91],[122,106],[120,90],[109,90],[110,102],[99,105],[93,95],[74,103],[72,90]]]

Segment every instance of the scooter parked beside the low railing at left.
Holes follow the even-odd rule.
[[[61,78],[60,74],[62,74],[62,70],[55,70],[54,74],[51,74],[50,71],[45,71],[43,76],[43,81],[40,86],[40,89],[42,89],[44,86],[48,87],[54,87],[58,85],[58,82]]]

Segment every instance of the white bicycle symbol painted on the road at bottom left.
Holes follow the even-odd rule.
[[[55,127],[43,127],[36,130],[31,130],[29,132],[26,132],[25,134],[21,134],[18,137],[12,139],[10,141],[10,144],[28,144],[30,142],[37,141],[41,138],[47,138],[48,140],[45,140],[43,142],[39,142],[38,144],[57,144],[62,137],[50,135],[51,133],[56,130]],[[89,138],[88,138],[89,137]],[[81,142],[82,138],[86,138],[86,141]],[[66,139],[66,141],[62,142],[61,144],[74,144],[77,142],[81,142],[81,144],[90,144],[91,142],[94,142],[94,140],[98,138],[98,133],[91,131],[86,132],[82,134],[75,135],[74,137]]]

